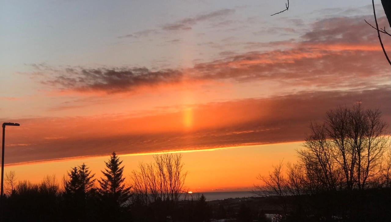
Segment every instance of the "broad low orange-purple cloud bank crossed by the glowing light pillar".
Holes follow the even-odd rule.
[[[208,149],[301,141],[310,121],[321,121],[337,105],[361,100],[383,111],[391,120],[391,86],[358,91],[300,92],[269,98],[240,99],[194,105],[179,112],[141,117],[63,117],[10,120],[7,144],[29,144],[6,149],[7,163],[34,162],[78,156]],[[184,118],[188,112],[192,124]]]

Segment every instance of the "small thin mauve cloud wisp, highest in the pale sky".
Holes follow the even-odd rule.
[[[173,30],[189,30],[193,25],[197,24],[200,21],[212,20],[215,18],[223,18],[230,14],[233,14],[235,9],[221,9],[218,11],[213,11],[209,13],[200,14],[198,16],[185,18],[183,20],[179,20],[175,23],[168,23],[161,27],[161,29],[166,31]]]

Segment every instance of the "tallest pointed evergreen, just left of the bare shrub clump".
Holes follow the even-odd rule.
[[[124,167],[121,167],[122,161],[113,152],[108,162],[104,162],[107,169],[103,173],[103,178],[98,180],[100,189],[99,193],[102,197],[102,202],[110,204],[106,206],[112,208],[113,211],[118,211],[125,202],[130,198],[130,187],[124,184],[125,177],[122,175]]]

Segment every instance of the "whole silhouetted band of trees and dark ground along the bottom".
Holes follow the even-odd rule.
[[[255,186],[259,197],[207,202],[184,187],[181,155],[140,163],[125,183],[113,153],[102,178],[85,164],[71,168],[60,186],[54,176],[39,184],[6,174],[3,221],[390,221],[391,153],[379,110],[360,103],[312,123],[298,162],[280,162]]]

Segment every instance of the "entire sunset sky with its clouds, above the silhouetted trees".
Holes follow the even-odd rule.
[[[190,190],[251,190],[330,108],[361,100],[391,123],[370,4],[0,0],[0,121],[21,124],[5,172],[100,176],[116,151],[129,179],[151,153],[185,151]]]

